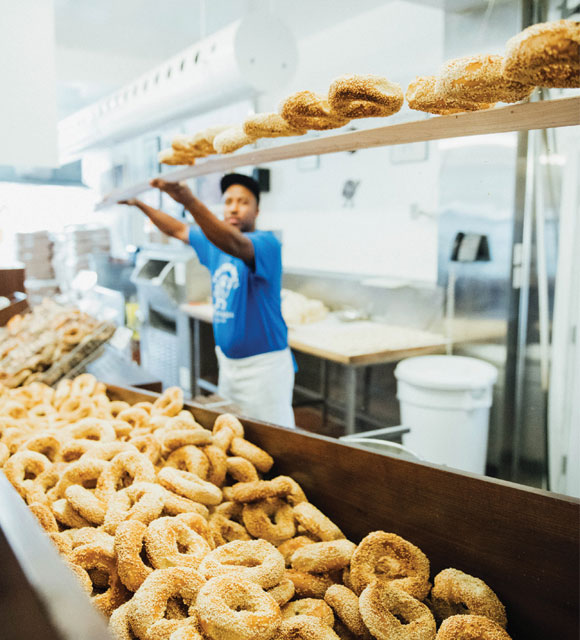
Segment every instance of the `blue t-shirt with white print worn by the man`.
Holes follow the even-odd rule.
[[[269,231],[246,233],[254,245],[254,269],[218,249],[191,227],[189,244],[211,273],[215,343],[228,358],[247,358],[288,346],[282,318],[282,247]]]

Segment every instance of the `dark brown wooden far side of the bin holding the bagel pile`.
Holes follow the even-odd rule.
[[[109,395],[132,404],[156,397],[112,386]],[[219,415],[187,406],[206,427]],[[506,605],[514,640],[577,640],[580,501],[243,423],[248,439],[274,457],[272,472],[300,482],[353,541],[376,529],[398,533],[427,554],[432,576],[455,567],[485,580]]]

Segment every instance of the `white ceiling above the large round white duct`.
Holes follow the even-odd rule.
[[[241,18],[270,10],[300,40],[393,0],[55,0],[59,117]],[[461,10],[504,0],[411,0]]]

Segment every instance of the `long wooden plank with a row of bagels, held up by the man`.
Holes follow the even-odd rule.
[[[355,151],[427,140],[460,138],[464,136],[549,129],[580,124],[580,96],[541,102],[498,107],[450,116],[436,116],[426,120],[387,125],[348,133],[321,136],[290,144],[245,151],[233,155],[214,156],[197,164],[160,174],[166,180],[180,182],[195,176],[223,173],[237,167],[278,162],[304,156],[323,155],[341,151]],[[152,176],[153,177],[153,176]],[[111,206],[125,198],[150,189],[149,182],[140,182],[108,194],[96,209]]]

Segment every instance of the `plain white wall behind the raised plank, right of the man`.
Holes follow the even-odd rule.
[[[344,73],[376,73],[406,87],[419,73],[435,73],[443,41],[442,10],[385,4],[301,41],[291,86],[260,96],[257,107],[271,110],[284,95],[303,88],[324,92]],[[405,106],[388,119],[353,120],[346,129],[418,115]],[[437,226],[428,214],[438,204],[436,143],[329,154],[269,168],[272,192],[264,197],[261,224],[282,231],[285,267],[435,282]],[[343,195],[349,181],[356,185],[351,200]]]

